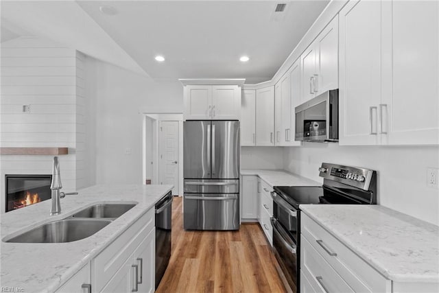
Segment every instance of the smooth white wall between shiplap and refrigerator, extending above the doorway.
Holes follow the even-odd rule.
[[[96,105],[96,183],[143,183],[142,113],[182,113],[182,84],[154,81],[90,57],[85,62],[87,96]]]

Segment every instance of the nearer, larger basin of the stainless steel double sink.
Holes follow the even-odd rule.
[[[110,220],[59,220],[43,224],[5,242],[60,243],[73,242],[95,234],[110,224]]]

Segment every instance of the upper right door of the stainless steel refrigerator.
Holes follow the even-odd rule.
[[[239,121],[212,121],[212,178],[239,178]]]

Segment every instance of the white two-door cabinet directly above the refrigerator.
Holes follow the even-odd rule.
[[[239,86],[187,85],[184,99],[185,119],[239,120]]]

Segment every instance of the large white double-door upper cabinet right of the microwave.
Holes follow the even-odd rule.
[[[438,1],[346,4],[340,11],[340,144],[438,144],[438,67]]]

